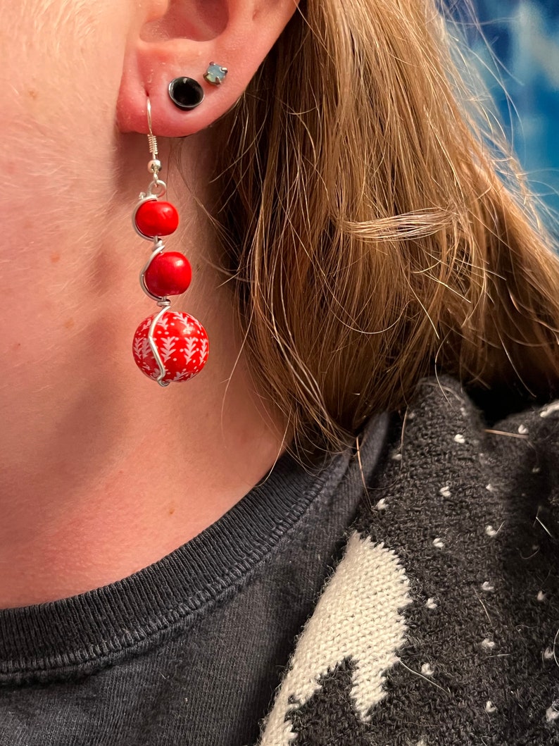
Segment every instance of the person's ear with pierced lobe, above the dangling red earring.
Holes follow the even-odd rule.
[[[117,104],[121,132],[184,137],[208,127],[241,97],[297,8],[297,0],[146,0],[124,54]],[[221,85],[207,83],[209,63],[227,68]],[[168,95],[174,78],[194,78],[203,102],[180,110]]]

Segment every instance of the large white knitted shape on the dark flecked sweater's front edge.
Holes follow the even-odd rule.
[[[405,642],[400,609],[411,603],[408,579],[393,551],[353,533],[335,574],[306,624],[266,723],[261,746],[288,746],[289,714],[308,702],[319,679],[344,659],[356,663],[351,690],[356,712],[370,719],[385,692],[385,671]]]

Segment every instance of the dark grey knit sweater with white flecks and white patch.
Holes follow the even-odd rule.
[[[420,385],[261,746],[559,744],[558,423]]]

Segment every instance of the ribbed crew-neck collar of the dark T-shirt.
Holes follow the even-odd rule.
[[[306,470],[283,454],[218,521],[148,567],[69,598],[0,609],[0,683],[95,670],[192,623],[234,592],[321,492],[335,489],[348,462],[339,454]]]

